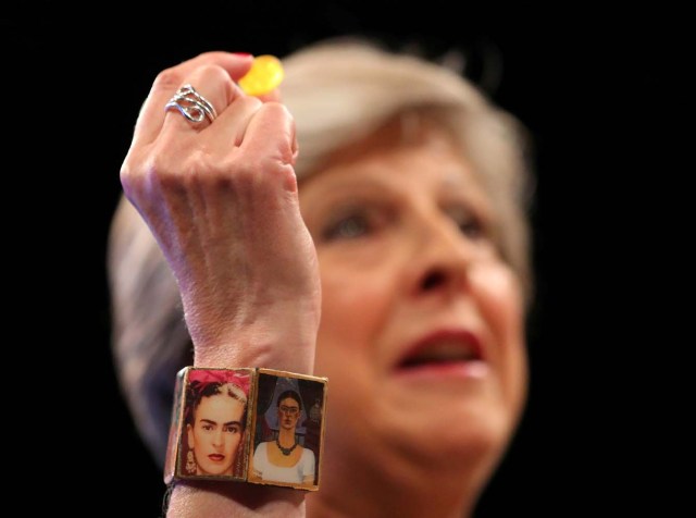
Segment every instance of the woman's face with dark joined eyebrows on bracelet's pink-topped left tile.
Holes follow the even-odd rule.
[[[198,474],[233,474],[243,418],[244,404],[227,394],[201,399],[194,425],[188,425],[188,444],[196,455]]]

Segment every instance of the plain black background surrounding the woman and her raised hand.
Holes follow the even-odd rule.
[[[649,397],[631,377],[647,350],[641,297],[650,284],[635,266],[662,237],[658,201],[675,174],[667,164],[672,116],[682,109],[683,13],[667,5],[608,12],[497,4],[484,12],[444,1],[212,1],[153,5],[157,16],[146,16],[145,3],[45,2],[0,18],[12,135],[3,165],[7,271],[22,281],[11,323],[21,322],[26,344],[8,349],[27,353],[23,361],[49,377],[38,392],[39,408],[54,414],[40,448],[51,460],[40,469],[50,470],[52,485],[97,495],[100,504],[87,509],[160,513],[160,470],[115,384],[103,268],[119,168],[151,81],[206,50],[282,57],[336,35],[417,46],[433,58],[462,52],[465,74],[534,138],[530,404],[475,516],[625,510],[626,491],[652,485],[643,473],[655,453],[636,461],[627,445],[636,435],[632,402]],[[651,305],[660,300],[650,297]],[[36,418],[26,417],[33,427]],[[620,490],[623,483],[631,490]],[[82,502],[51,505],[75,509]]]

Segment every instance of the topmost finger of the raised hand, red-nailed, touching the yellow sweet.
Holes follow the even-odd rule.
[[[133,143],[137,140],[151,141],[157,137],[164,123],[164,106],[191,71],[201,65],[214,64],[224,69],[232,81],[236,83],[249,71],[252,61],[253,57],[247,53],[203,52],[196,58],[160,72],[138,114]]]

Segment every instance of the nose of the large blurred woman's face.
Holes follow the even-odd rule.
[[[413,239],[410,286],[417,296],[469,291],[475,244],[446,215],[424,218]]]

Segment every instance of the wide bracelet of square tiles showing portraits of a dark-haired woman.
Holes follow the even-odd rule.
[[[164,482],[225,480],[316,491],[327,383],[273,369],[182,369]]]

